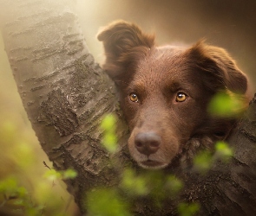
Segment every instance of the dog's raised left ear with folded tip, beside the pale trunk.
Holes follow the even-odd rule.
[[[138,47],[154,46],[154,35],[145,34],[135,24],[125,21],[110,23],[97,38],[103,41],[105,49],[106,62],[103,68],[112,78],[119,75],[125,55]]]

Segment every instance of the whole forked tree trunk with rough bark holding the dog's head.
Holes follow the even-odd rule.
[[[3,40],[18,92],[36,136],[58,170],[75,168],[66,181],[83,213],[84,196],[96,186],[116,186],[119,170],[131,165],[128,128],[117,103],[115,85],[102,72],[86,47],[72,1],[3,1]],[[119,117],[119,150],[102,148],[99,130],[104,114]],[[154,207],[150,199],[136,200],[136,215],[175,215],[180,201],[200,202],[200,215],[256,214],[256,102],[230,137],[232,162],[217,162],[207,175],[181,168],[185,187],[177,200]],[[113,157],[119,169],[110,166]],[[117,165],[116,165],[117,166]]]

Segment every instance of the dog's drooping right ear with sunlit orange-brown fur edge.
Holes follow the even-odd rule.
[[[199,41],[191,49],[200,69],[209,73],[213,88],[226,88],[231,92],[243,94],[247,90],[246,75],[237,67],[235,61],[223,48],[209,46]]]

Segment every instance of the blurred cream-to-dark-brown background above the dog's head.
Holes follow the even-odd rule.
[[[98,30],[117,19],[135,22],[156,35],[157,45],[194,44],[202,38],[226,48],[256,90],[256,1],[77,0],[77,13],[90,51],[104,60]]]

